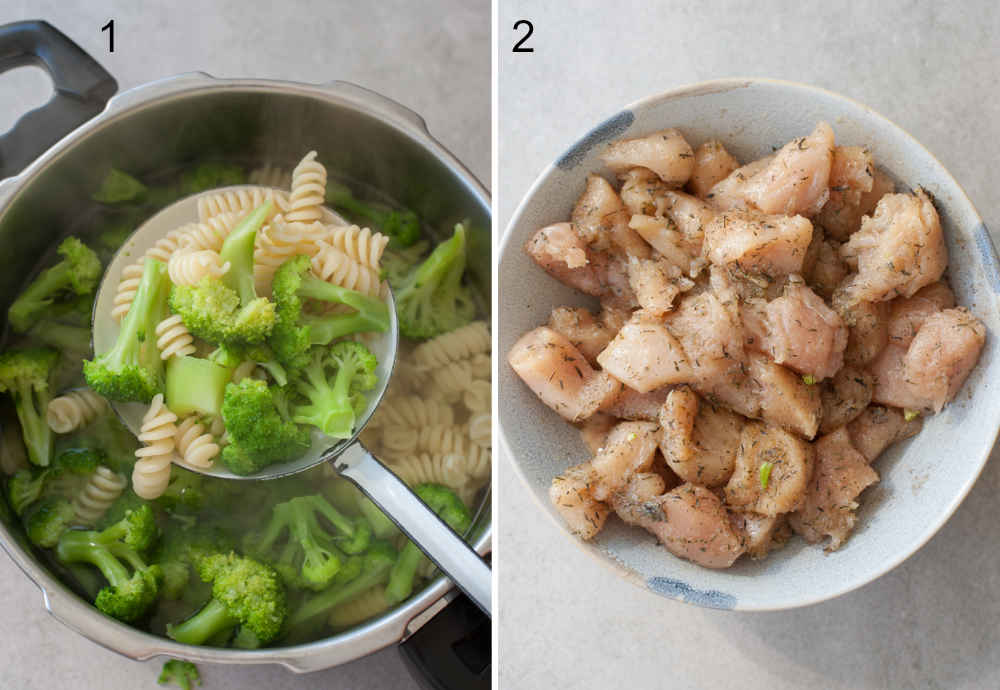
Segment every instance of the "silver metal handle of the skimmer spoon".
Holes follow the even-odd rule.
[[[483,613],[491,615],[490,566],[399,477],[361,443],[351,444],[331,462],[342,476],[372,499]]]

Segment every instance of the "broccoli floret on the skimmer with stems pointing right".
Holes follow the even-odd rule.
[[[385,302],[320,280],[312,274],[308,256],[296,256],[283,263],[274,274],[272,291],[277,321],[270,343],[278,359],[290,369],[306,365],[313,345],[329,345],[353,333],[389,330]],[[354,311],[307,313],[305,307],[312,303],[323,307],[347,305]]]

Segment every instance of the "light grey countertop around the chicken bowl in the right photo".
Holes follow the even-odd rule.
[[[533,53],[510,52],[519,19],[534,24]],[[900,124],[996,237],[998,30],[986,2],[501,2],[499,227],[552,160],[622,106],[706,79],[766,76],[844,93]],[[543,514],[502,455],[498,475],[503,690],[1000,687],[996,459],[890,574],[830,602],[758,614],[625,582]]]

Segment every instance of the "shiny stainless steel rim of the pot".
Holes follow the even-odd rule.
[[[100,114],[66,134],[20,173],[0,180],[0,218],[21,190],[56,164],[79,140],[113,126],[120,119],[140,110],[156,107],[163,101],[220,91],[305,96],[375,117],[433,154],[469,189],[487,212],[490,210],[490,196],[486,188],[431,135],[423,118],[375,91],[346,81],[307,84],[270,79],[220,79],[205,72],[191,72],[142,84],[117,94]],[[490,495],[491,488],[487,487],[483,505],[490,501]],[[491,541],[490,520],[474,548],[480,555],[485,555],[491,550]],[[387,614],[308,644],[257,650],[197,647],[153,635],[105,616],[42,568],[30,551],[11,538],[5,525],[0,525],[0,547],[38,586],[45,608],[57,620],[102,647],[135,660],[170,656],[209,663],[281,664],[297,673],[316,671],[347,663],[404,640],[451,600],[452,597],[446,595],[454,589],[451,581],[439,575],[422,592]]]

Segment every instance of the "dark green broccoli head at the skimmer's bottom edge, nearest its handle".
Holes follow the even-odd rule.
[[[222,461],[235,474],[258,472],[309,449],[309,431],[281,413],[282,393],[263,381],[243,379],[226,386],[222,421],[229,445]]]

